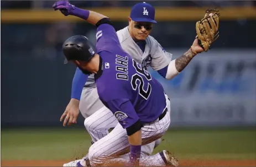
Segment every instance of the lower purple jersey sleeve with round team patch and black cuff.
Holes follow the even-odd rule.
[[[113,112],[114,116],[116,116],[123,128],[128,128],[139,120],[139,117],[129,99],[110,100],[106,105],[108,109]]]

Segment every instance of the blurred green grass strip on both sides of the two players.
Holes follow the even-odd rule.
[[[179,158],[256,159],[256,131],[171,130],[154,153],[162,149]],[[81,157],[91,146],[83,128],[9,129],[1,131],[1,160],[58,160]]]

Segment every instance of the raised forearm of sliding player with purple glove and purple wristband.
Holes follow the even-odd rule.
[[[105,15],[102,15],[97,12],[93,12],[90,10],[80,9],[70,4],[68,1],[59,0],[53,5],[54,10],[60,10],[60,12],[64,15],[74,15],[81,19],[86,20],[88,23],[92,25],[96,25],[98,21],[103,18],[108,18]]]

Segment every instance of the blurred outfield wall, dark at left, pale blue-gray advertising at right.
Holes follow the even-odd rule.
[[[184,49],[167,51],[175,58]],[[210,50],[173,80],[149,69],[171,99],[171,125],[256,125],[255,54],[254,50]],[[61,126],[74,66],[64,66],[62,57],[2,58],[1,62],[2,126]],[[81,115],[79,125],[83,125]]]

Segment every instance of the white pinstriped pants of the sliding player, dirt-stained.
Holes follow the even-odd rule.
[[[146,144],[154,142],[156,139],[161,138],[164,133],[168,130],[170,125],[170,101],[166,95],[166,107],[168,111],[166,115],[160,121],[157,119],[150,123],[145,123],[142,128],[142,149]],[[107,111],[107,110],[105,110]],[[103,110],[102,110],[103,112]],[[99,113],[100,114],[100,113]],[[101,114],[103,116],[103,114]],[[109,112],[110,117],[110,112]],[[114,116],[113,116],[114,117]],[[94,120],[99,117],[95,117]],[[111,117],[112,118],[112,117]],[[115,118],[115,117],[114,117]],[[113,119],[114,119],[113,118]],[[153,146],[154,147],[154,146]],[[152,149],[153,152],[153,149]],[[101,165],[103,162],[109,159],[115,159],[117,161],[128,161],[129,153],[129,142],[126,129],[124,129],[119,123],[117,126],[105,137],[101,138],[89,149],[88,158],[92,166]],[[120,156],[124,155],[124,156]],[[149,166],[161,166],[165,165],[160,154],[155,154],[152,156],[143,156],[140,160],[143,165]]]

